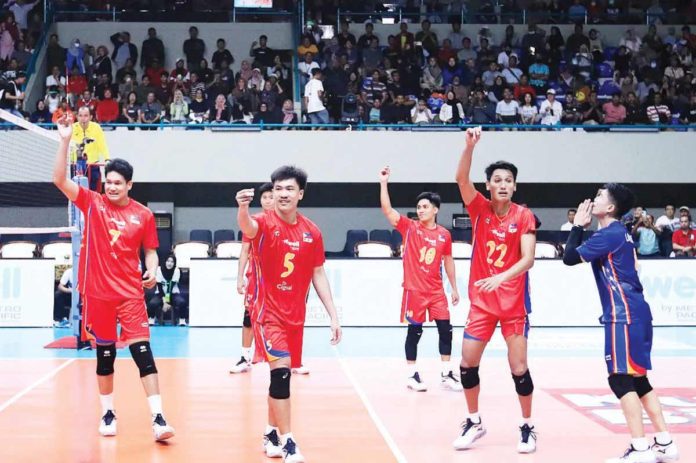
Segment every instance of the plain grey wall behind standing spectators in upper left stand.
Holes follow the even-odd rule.
[[[143,40],[147,38],[147,29],[155,27],[157,36],[162,39],[165,47],[165,65],[167,70],[174,69],[178,58],[186,58],[183,51],[184,40],[189,38],[188,29],[191,26],[198,27],[199,37],[206,45],[205,57],[210,61],[215,51],[215,43],[218,38],[227,42],[227,49],[234,57],[232,69],[239,70],[243,59],[249,57],[249,46],[254,40],[258,41],[261,34],[268,36],[268,46],[273,49],[293,48],[291,23],[130,23],[130,22],[59,22],[56,24],[56,33],[60,37],[60,43],[66,46],[74,38],[79,38],[85,44],[104,45],[109,54],[113,52],[113,44],[109,40],[116,32],[130,32],[131,42],[138,47],[138,63],[140,69],[140,52]],[[210,65],[212,68],[212,63]],[[114,69],[114,73],[116,70]],[[138,75],[140,79],[141,75]]]

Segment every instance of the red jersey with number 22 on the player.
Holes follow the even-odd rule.
[[[474,283],[502,273],[522,258],[522,235],[536,232],[534,214],[512,203],[505,217],[498,217],[491,202],[477,192],[466,205],[473,227],[473,253],[469,275],[471,305],[488,312],[531,312],[527,272],[508,280],[490,293],[481,292]]]

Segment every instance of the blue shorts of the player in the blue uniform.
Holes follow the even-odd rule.
[[[604,325],[604,355],[610,375],[644,376],[652,369],[652,323]]]

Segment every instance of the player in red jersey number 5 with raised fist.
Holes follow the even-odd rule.
[[[251,239],[259,299],[252,321],[257,349],[270,364],[266,456],[283,456],[288,463],[304,462],[290,430],[291,358],[302,358],[302,335],[309,284],[331,320],[331,344],[341,340],[341,327],[324,271],[324,243],[319,228],[298,212],[307,174],[293,166],[271,175],[275,209],[252,217],[254,190],[237,193],[239,228]]]

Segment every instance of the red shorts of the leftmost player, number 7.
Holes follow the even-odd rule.
[[[116,324],[121,324],[118,336]],[[106,301],[82,297],[82,340],[97,344],[113,344],[117,340],[150,338],[147,309],[143,299]]]

